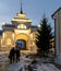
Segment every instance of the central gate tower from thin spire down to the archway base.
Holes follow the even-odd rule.
[[[15,26],[14,28],[14,42],[20,43],[20,47],[22,51],[29,51],[29,44],[30,44],[30,26],[32,21],[26,17],[26,14],[23,12],[22,2],[21,2],[21,12],[17,13],[16,17],[12,19],[12,25]]]

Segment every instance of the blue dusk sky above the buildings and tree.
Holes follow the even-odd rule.
[[[33,25],[39,25],[44,13],[53,28],[52,13],[61,7],[61,0],[22,0],[23,12],[32,20]],[[21,0],[0,0],[0,27],[11,24],[11,19],[21,11]]]

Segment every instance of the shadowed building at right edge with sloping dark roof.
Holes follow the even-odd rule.
[[[61,8],[59,8],[53,14],[54,20],[54,35],[56,35],[56,62],[61,63]]]

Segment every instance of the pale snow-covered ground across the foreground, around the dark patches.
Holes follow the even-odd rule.
[[[51,63],[38,62],[32,64],[30,63],[32,61],[33,59],[22,56],[20,58],[20,62],[14,62],[12,64],[9,64],[7,66],[8,67],[7,70],[3,70],[5,69],[5,64],[7,62],[9,62],[9,59],[7,54],[0,54],[0,67],[2,66],[2,68],[0,68],[0,71],[28,71],[28,66],[32,67],[33,71],[61,71]]]

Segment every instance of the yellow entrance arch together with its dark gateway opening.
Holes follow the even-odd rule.
[[[19,43],[20,47],[22,46],[21,49],[28,49],[28,36],[26,34],[19,34],[15,35],[15,43]],[[22,44],[22,45],[21,45]]]

